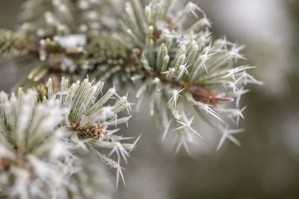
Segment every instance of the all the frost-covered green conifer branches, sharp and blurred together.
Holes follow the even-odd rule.
[[[238,59],[244,59],[240,54],[244,46],[225,37],[213,39],[210,21],[196,4],[189,2],[177,11],[173,3],[149,0],[143,6],[140,0],[132,0],[125,4],[121,18],[120,9],[115,9],[121,3],[110,0],[27,0],[23,4],[23,24],[17,33],[0,30],[0,59],[27,56],[40,65],[16,85],[15,89],[23,86],[25,93],[18,90],[18,98],[0,95],[3,190],[11,187],[12,195],[24,199],[105,195],[96,190],[102,181],[96,180],[101,176],[93,165],[82,165],[81,157],[82,171],[73,166],[78,148],[117,169],[117,183],[120,176],[124,180],[121,159],[127,162],[139,138],[124,144],[121,141],[128,138],[115,134],[116,126],[131,117],[119,117],[123,110],[130,114],[131,103],[128,95],[116,93],[116,86],[134,85],[137,109],[148,99],[150,115],[165,127],[162,140],[173,131],[176,152],[183,147],[190,153],[188,144],[202,138],[192,127],[197,118],[186,105],[222,133],[217,150],[226,138],[241,145],[232,134],[243,129],[229,129],[223,122],[231,119],[238,125],[243,118],[246,106],[240,107],[240,98],[248,92],[244,88],[262,84],[247,73],[255,67],[235,67]],[[197,20],[186,25],[189,15]],[[106,81],[115,86],[100,97]],[[113,105],[105,105],[115,99]],[[57,143],[63,150],[50,147]],[[111,153],[103,154],[103,148]],[[109,157],[113,153],[118,160]],[[62,165],[62,171],[57,165]],[[38,173],[44,167],[55,175]],[[92,175],[92,182],[87,182],[86,175]],[[90,190],[82,189],[81,178]],[[20,182],[26,185],[18,189]],[[74,187],[66,188],[68,183]]]

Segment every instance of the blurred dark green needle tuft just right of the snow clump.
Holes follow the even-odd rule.
[[[129,38],[123,36],[129,42]],[[131,78],[142,70],[138,52],[128,50],[109,33],[101,33],[89,42],[86,47],[86,60],[89,74],[102,81],[114,82],[116,85],[127,85]],[[125,83],[125,84],[124,84]]]

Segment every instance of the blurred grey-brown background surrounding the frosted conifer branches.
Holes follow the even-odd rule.
[[[0,28],[15,30],[23,0],[0,0]],[[147,103],[134,113],[123,135],[142,137],[124,171],[127,188],[115,199],[298,199],[299,198],[299,0],[193,0],[212,21],[214,38],[246,44],[239,65],[251,70],[265,86],[251,86],[241,104],[248,105],[246,128],[237,147],[196,121],[204,140],[192,157],[177,155],[160,144]],[[6,92],[30,66],[0,63],[0,90]],[[126,92],[124,91],[124,94]],[[130,101],[136,102],[129,91]],[[242,106],[241,106],[242,107]],[[110,170],[111,172],[115,172]]]

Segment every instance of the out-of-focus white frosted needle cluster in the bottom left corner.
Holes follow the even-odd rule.
[[[59,128],[67,115],[36,92],[0,93],[0,193],[18,199],[67,198],[73,155]]]

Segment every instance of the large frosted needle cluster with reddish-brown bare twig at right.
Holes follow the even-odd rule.
[[[171,10],[172,3],[173,0],[151,0],[143,8],[140,0],[127,2],[120,24],[131,41],[124,40],[122,35],[113,36],[131,55],[140,52],[140,61],[136,65],[143,67],[130,74],[139,87],[137,106],[149,96],[150,114],[156,114],[166,128],[163,139],[171,120],[175,120],[176,127],[172,129],[175,133],[172,134],[177,142],[176,151],[183,146],[190,153],[187,143],[201,137],[191,127],[194,116],[185,112],[184,101],[194,106],[203,120],[223,134],[218,149],[224,138],[240,145],[230,133],[242,129],[228,130],[206,114],[220,121],[223,117],[236,118],[238,123],[244,110],[239,108],[239,100],[248,92],[243,88],[249,83],[261,84],[247,73],[255,67],[234,67],[234,61],[244,59],[239,53],[244,46],[231,43],[225,37],[213,40],[209,31],[211,24],[196,4],[189,2],[182,11],[176,12]],[[198,18],[199,13],[203,18],[185,27],[183,22],[187,15]],[[225,108],[234,99],[237,99],[236,108]],[[169,119],[168,112],[173,119]]]

